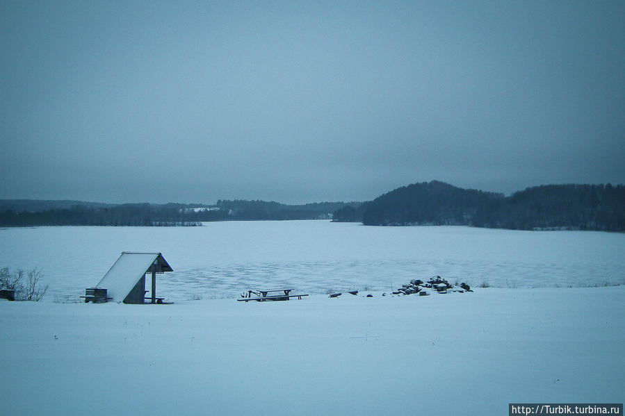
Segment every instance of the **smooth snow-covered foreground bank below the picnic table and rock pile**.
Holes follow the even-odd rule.
[[[505,415],[625,399],[625,286],[373,295],[0,301],[0,413]]]

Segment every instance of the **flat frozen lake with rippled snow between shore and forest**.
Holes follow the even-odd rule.
[[[625,283],[622,233],[328,221],[0,229],[0,267],[42,269],[46,301],[77,299],[121,251],[163,253],[174,272],[159,276],[157,292],[172,301],[238,297],[269,286],[311,294],[389,291],[435,274],[499,288]]]

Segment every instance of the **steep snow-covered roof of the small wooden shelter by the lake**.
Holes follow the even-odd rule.
[[[156,272],[173,272],[161,253],[132,253],[122,251],[115,264],[108,269],[97,288],[106,289],[106,295],[115,302],[123,301],[140,278],[156,265]]]

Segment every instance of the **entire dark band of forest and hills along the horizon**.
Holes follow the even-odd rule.
[[[197,226],[212,221],[332,219],[371,226],[464,225],[518,230],[625,231],[624,185],[540,185],[506,197],[440,181],[413,183],[373,201],[92,203],[0,200],[0,226]]]

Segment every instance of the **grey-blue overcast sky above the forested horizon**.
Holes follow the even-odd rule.
[[[625,183],[624,1],[0,1],[0,198]]]

